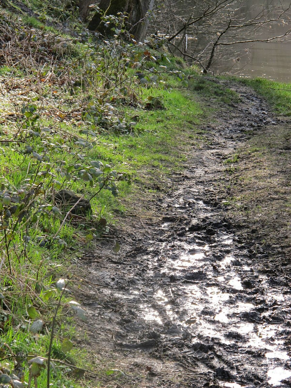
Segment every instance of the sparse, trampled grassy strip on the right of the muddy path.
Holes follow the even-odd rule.
[[[244,239],[260,241],[254,252],[262,251],[265,259],[258,266],[268,272],[277,263],[281,270],[288,265],[290,246],[291,87],[261,78],[234,80],[267,100],[270,111],[258,128],[249,128],[248,140],[227,160],[229,217],[243,225]]]

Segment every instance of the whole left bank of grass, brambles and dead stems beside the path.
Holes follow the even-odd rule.
[[[78,256],[104,236],[118,252],[122,198],[177,168],[178,136],[202,113],[162,42],[134,42],[123,15],[109,40],[73,15],[60,28],[47,5],[0,12],[0,385],[19,388],[107,381],[74,344]]]

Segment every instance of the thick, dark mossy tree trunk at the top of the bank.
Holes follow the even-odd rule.
[[[146,17],[148,11],[151,11],[154,0],[101,0],[99,8],[104,15],[117,15],[118,12],[127,12],[127,29],[138,42],[144,40],[149,25],[149,18]],[[101,22],[100,14],[96,13],[88,24],[90,31],[99,31],[106,33],[106,27]],[[107,30],[110,30],[110,28]]]

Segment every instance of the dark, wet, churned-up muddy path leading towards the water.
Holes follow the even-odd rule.
[[[243,237],[253,225],[228,217],[223,188],[224,162],[248,131],[282,123],[251,89],[229,86],[241,101],[202,126],[207,142],[170,194],[145,204],[148,219],[128,217],[119,253],[108,244],[86,258],[86,330],[99,359],[123,372],[116,386],[291,386],[289,278],[258,269],[268,252]]]

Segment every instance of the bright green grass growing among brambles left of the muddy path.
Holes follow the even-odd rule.
[[[100,235],[97,227],[99,218],[106,218],[108,223],[114,223],[116,211],[119,213],[126,211],[123,198],[128,197],[132,191],[146,190],[146,187],[149,192],[154,191],[151,188],[151,182],[157,179],[155,177],[157,171],[158,179],[163,180],[172,171],[180,169],[181,161],[185,160],[183,149],[188,135],[191,135],[192,140],[195,140],[197,144],[203,141],[201,133],[196,134],[195,130],[195,124],[199,122],[199,116],[203,114],[203,111],[195,102],[195,95],[191,88],[177,89],[177,86],[181,85],[180,81],[168,78],[168,76],[166,79],[166,88],[155,87],[142,90],[140,107],[117,106],[119,114],[125,117],[126,121],[131,121],[135,117],[137,125],[133,127],[132,133],[122,135],[107,130],[95,142],[95,138],[88,135],[87,140],[93,141],[94,145],[84,148],[83,145],[75,144],[76,138],[72,135],[80,136],[80,128],[72,121],[60,123],[54,133],[32,134],[26,137],[24,143],[2,143],[0,175],[2,181],[5,182],[6,190],[9,189],[12,192],[17,192],[26,185],[33,187],[38,184],[42,184],[43,189],[49,192],[52,178],[58,182],[54,183],[55,189],[66,187],[68,177],[64,176],[64,171],[76,162],[87,166],[92,160],[100,160],[104,165],[109,164],[111,170],[130,174],[133,182],[132,186],[126,182],[118,183],[118,197],[114,197],[108,190],[102,190],[91,201],[91,217],[95,218],[87,219],[87,222],[84,223],[78,222],[78,225],[65,223],[59,232],[58,239],[49,242],[49,249],[46,246],[39,246],[36,238],[50,239],[54,236],[59,230],[64,213],[54,214],[51,208],[43,208],[42,211],[39,211],[40,206],[47,204],[42,194],[36,197],[36,202],[29,212],[29,223],[26,223],[26,218],[17,223],[18,215],[11,217],[9,222],[11,227],[15,225],[15,229],[11,235],[9,260],[13,274],[17,274],[17,277],[9,275],[8,262],[5,260],[6,275],[1,279],[0,292],[5,296],[5,302],[13,315],[4,314],[2,316],[4,326],[1,329],[1,338],[14,353],[24,352],[47,357],[49,327],[57,300],[54,282],[59,277],[70,276],[68,263],[65,262],[72,258],[70,249],[80,248],[87,234]],[[159,98],[165,109],[144,110],[142,107],[149,102],[149,97]],[[38,102],[35,101],[35,103]],[[29,121],[29,118],[28,129],[36,130],[37,128],[33,128],[33,125],[40,128],[44,126],[52,128],[54,125],[52,120],[42,115],[40,108],[37,108],[34,114],[40,116],[32,116],[36,117],[36,121]],[[24,117],[19,116],[17,126],[9,124],[1,138],[7,139],[7,132],[10,137],[15,135],[19,130],[19,125],[23,126],[25,120]],[[64,135],[63,131],[70,135]],[[32,154],[25,153],[27,146],[32,147],[38,154],[43,154],[45,150],[48,150],[49,160],[47,162],[38,161]],[[84,160],[76,157],[77,154],[82,154]],[[52,175],[43,177],[40,175],[43,170],[48,170]],[[94,194],[96,190],[90,186],[90,182],[82,179],[71,181],[70,189],[76,193],[85,194],[87,197]],[[29,242],[26,236],[29,236]],[[45,300],[47,290],[53,291],[49,300]],[[68,300],[69,298],[66,298],[64,302]],[[47,332],[36,335],[29,333],[27,313],[29,305],[34,305],[40,312],[43,322],[48,327]],[[15,317],[13,321],[12,316]],[[65,323],[57,326],[52,358],[60,359],[60,344],[63,338],[69,337],[75,340],[74,331],[68,319],[70,316],[68,308],[63,308],[58,315],[58,321]],[[21,327],[17,327],[16,323]],[[4,352],[4,355],[7,355],[7,352]],[[86,354],[80,353],[76,346],[66,357],[69,357],[70,363],[76,366],[86,365]],[[24,370],[24,379],[27,381],[27,366]],[[45,386],[45,370],[38,377],[38,384]],[[74,382],[65,368],[57,368],[56,374],[52,371],[52,384],[53,387],[59,384],[77,387],[80,386],[80,381]]]

